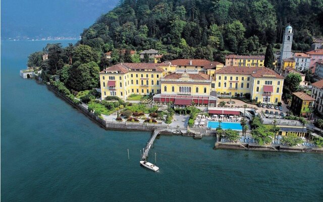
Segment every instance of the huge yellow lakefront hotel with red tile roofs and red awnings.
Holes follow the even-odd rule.
[[[250,93],[258,102],[281,101],[284,82],[281,75],[264,67],[223,66],[219,62],[189,59],[158,64],[120,63],[100,72],[101,98],[113,95],[127,99],[134,93],[158,92],[154,103],[166,104],[185,96],[182,99],[215,105],[217,96]]]

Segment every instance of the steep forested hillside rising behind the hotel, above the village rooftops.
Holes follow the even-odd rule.
[[[305,51],[312,35],[321,34],[322,21],[322,0],[124,0],[85,29],[81,43],[212,59],[218,51],[248,54],[279,43],[290,23],[293,49]]]

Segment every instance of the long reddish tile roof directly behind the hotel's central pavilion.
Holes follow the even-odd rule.
[[[192,65],[190,62],[192,61]],[[216,68],[217,65],[223,65],[222,63],[216,61],[208,61],[208,60],[200,60],[200,59],[177,59],[170,61],[172,65],[177,66],[199,66],[204,69],[213,69]]]

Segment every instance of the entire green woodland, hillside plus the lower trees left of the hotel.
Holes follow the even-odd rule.
[[[85,29],[76,45],[48,44],[30,55],[28,67],[41,67],[44,81],[59,75],[69,89],[91,89],[100,69],[140,62],[130,49],[154,48],[164,53],[162,60],[224,62],[228,53],[264,54],[262,47],[275,43],[280,48],[288,23],[293,48],[306,51],[323,31],[323,0],[124,0]],[[104,57],[108,51],[111,59]]]

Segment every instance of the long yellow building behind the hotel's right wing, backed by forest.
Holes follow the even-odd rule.
[[[264,56],[239,56],[228,55],[226,56],[226,66],[239,66],[239,67],[263,67]]]

